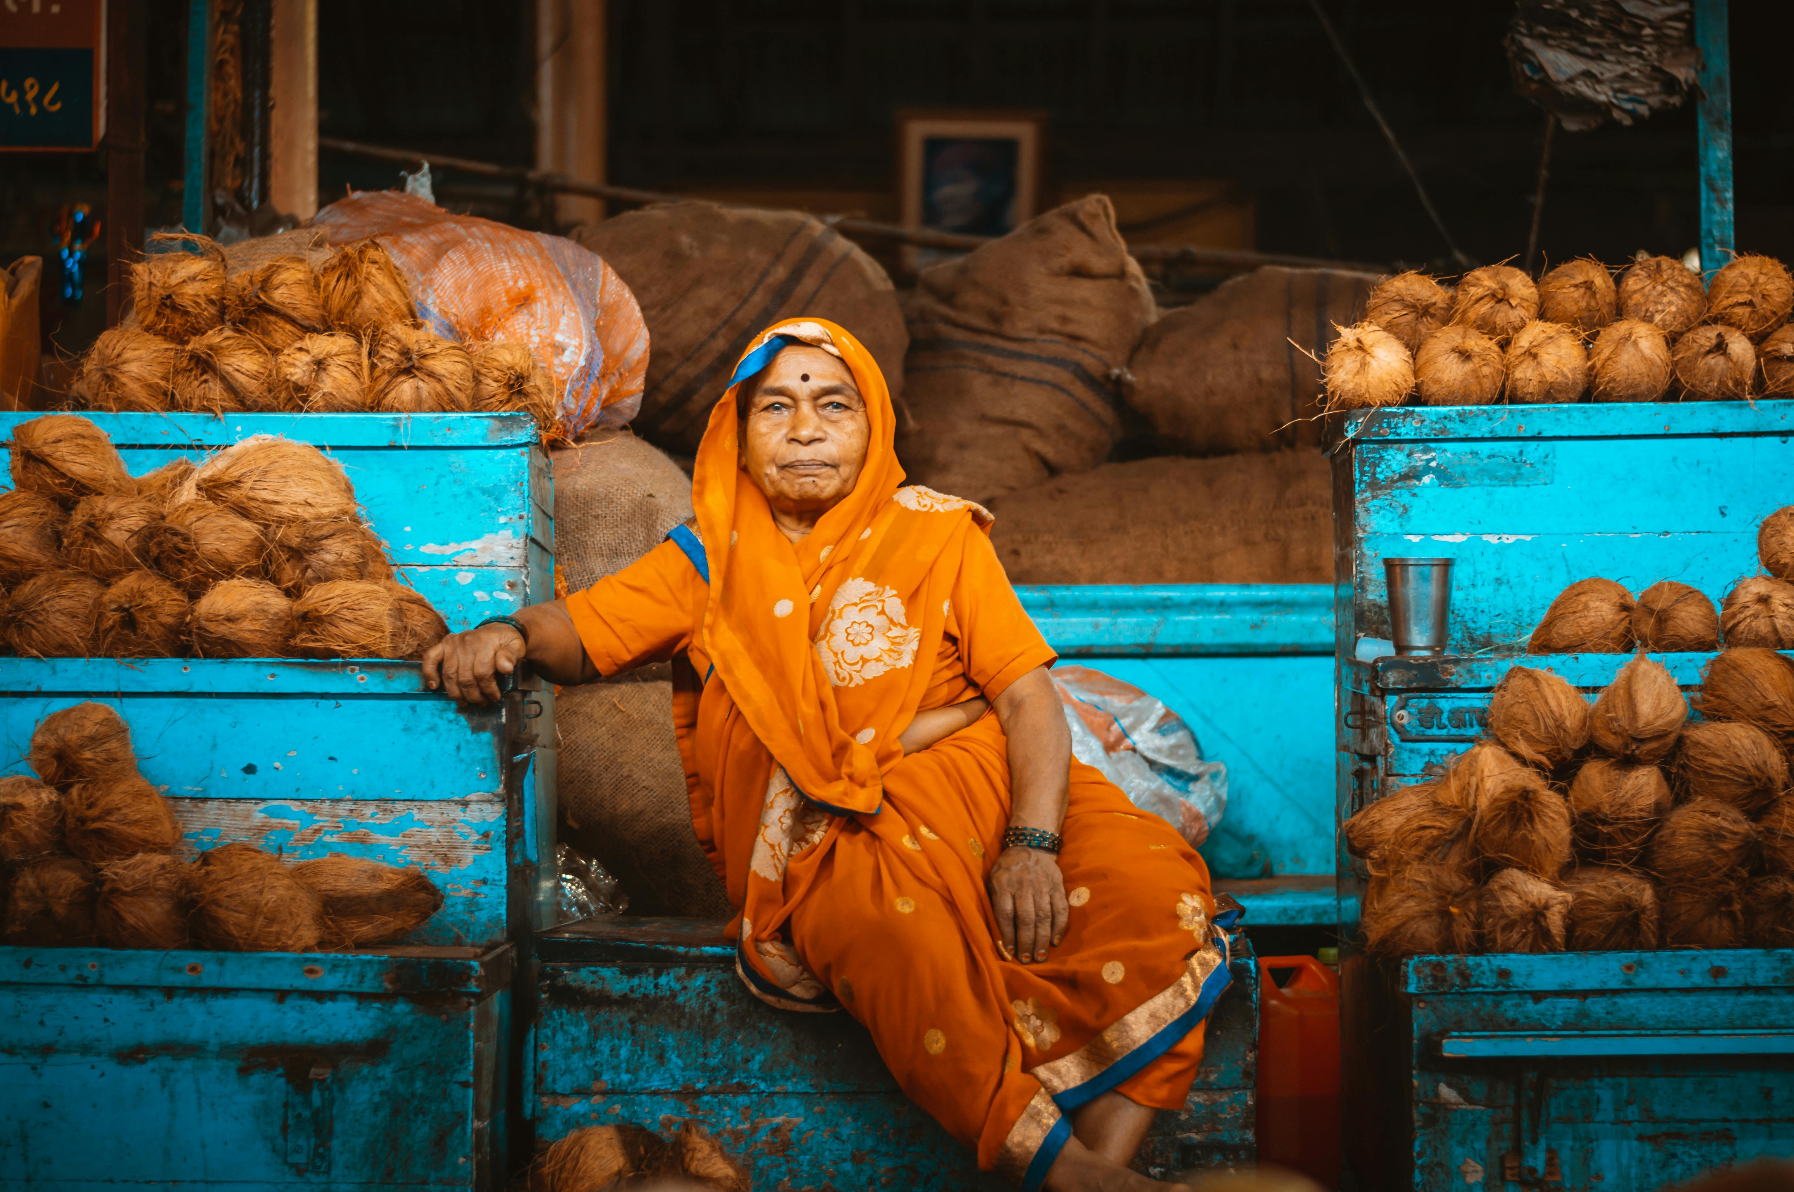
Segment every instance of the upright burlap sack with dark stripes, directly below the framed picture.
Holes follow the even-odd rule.
[[[1105,195],[922,272],[908,307],[897,452],[913,480],[987,502],[1103,462],[1114,373],[1157,317]]]

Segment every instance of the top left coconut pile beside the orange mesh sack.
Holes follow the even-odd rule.
[[[88,409],[520,412],[554,430],[560,402],[529,346],[431,332],[379,240],[343,246],[316,271],[305,256],[273,256],[226,276],[212,240],[156,238],[199,251],[131,267],[136,326],[100,333],[83,358]]]

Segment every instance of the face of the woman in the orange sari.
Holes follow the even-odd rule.
[[[872,421],[843,360],[793,344],[761,375],[741,427],[741,470],[779,513],[822,514],[854,491]]]

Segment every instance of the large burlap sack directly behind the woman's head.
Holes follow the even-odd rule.
[[[802,212],[666,203],[578,228],[574,242],[617,271],[648,319],[653,351],[635,432],[692,453],[736,360],[768,323],[840,323],[902,396],[897,290],[859,246]]]

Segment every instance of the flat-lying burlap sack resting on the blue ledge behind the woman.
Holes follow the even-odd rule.
[[[1333,486],[1315,450],[1103,464],[990,513],[1017,584],[1333,583]]]

